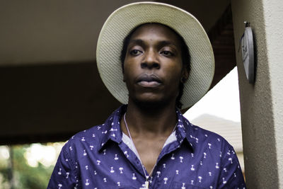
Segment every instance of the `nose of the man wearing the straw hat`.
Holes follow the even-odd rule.
[[[141,62],[141,68],[159,69],[158,52],[154,52],[154,50],[146,52]]]

